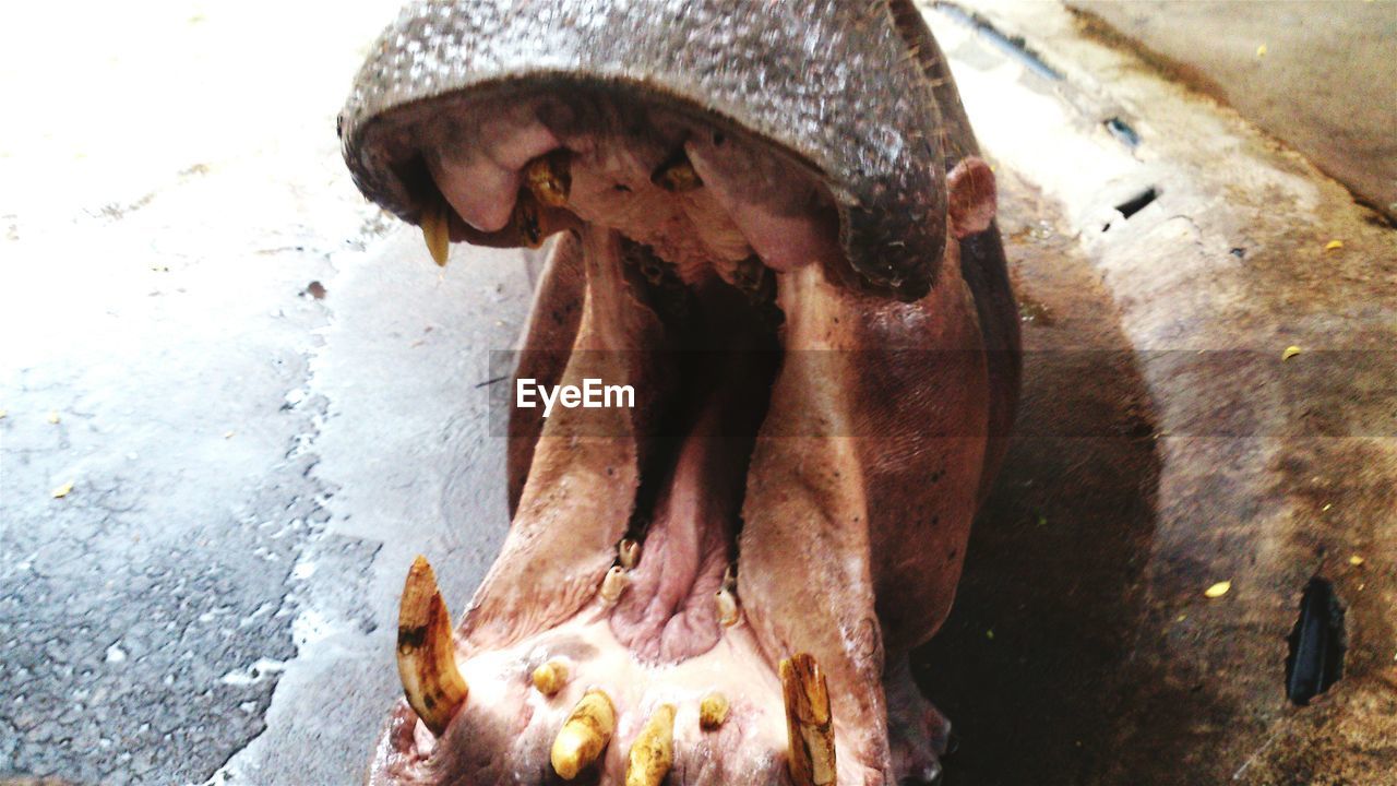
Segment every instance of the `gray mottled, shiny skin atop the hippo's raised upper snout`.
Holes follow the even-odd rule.
[[[946,243],[923,67],[887,3],[429,0],[380,38],[339,133],[359,187],[415,222],[412,162],[380,143],[416,102],[557,80],[669,99],[813,168],[840,208],[858,284],[911,301],[935,283]]]

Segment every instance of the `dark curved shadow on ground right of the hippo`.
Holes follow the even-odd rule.
[[[1053,207],[1002,180],[1024,397],[956,608],[914,671],[957,730],[944,786],[1090,783],[1119,724],[1139,717],[1125,698],[1151,684],[1130,653],[1155,530],[1154,406],[1115,303]],[[1211,701],[1187,685],[1158,695],[1161,684],[1160,729]]]

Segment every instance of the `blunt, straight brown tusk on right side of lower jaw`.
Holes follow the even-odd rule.
[[[781,692],[791,744],[787,766],[796,786],[834,783],[834,717],[820,664],[807,653],[781,662]]]

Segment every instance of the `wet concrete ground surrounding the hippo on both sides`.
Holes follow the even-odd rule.
[[[332,116],[394,7],[92,7],[52,81],[31,77],[41,38],[0,55],[28,109],[0,143],[0,782],[352,783],[398,691],[412,555],[439,566],[454,608],[493,558],[506,512],[488,352],[518,333],[529,267],[457,248],[439,271],[349,185]],[[1372,719],[1391,713],[1397,655],[1382,622],[1397,608],[1393,499],[1375,492],[1394,429],[1370,425],[1362,450],[1302,452],[1292,434],[1171,442],[1180,422],[1197,436],[1196,410],[1133,350],[1382,344],[1390,229],[1243,123],[1144,69],[1112,71],[1076,31],[977,8],[1066,78],[932,17],[1002,169],[1037,350],[960,604],[921,659],[964,740],[949,782],[1380,783],[1324,762],[1393,761]],[[3,14],[63,27],[57,10]],[[102,35],[117,25],[134,31],[120,43]],[[1221,152],[1189,152],[1208,140],[1246,158],[1238,193],[1206,172]],[[1147,185],[1166,196],[1097,228]],[[1253,220],[1267,199],[1284,210]],[[1323,250],[1331,236],[1343,256]],[[1295,290],[1281,323],[1248,316],[1248,290],[1270,303],[1319,266],[1343,287]],[[1199,301],[1199,277],[1231,299]],[[1368,303],[1344,299],[1358,290]],[[1083,418],[1084,434],[1059,427]],[[1359,459],[1368,470],[1344,471]],[[1241,491],[1208,496],[1206,471]],[[1249,491],[1277,478],[1306,506]],[[1303,543],[1273,526],[1302,516],[1330,523]],[[1278,696],[1277,653],[1310,569],[1352,606],[1356,660],[1347,692],[1302,713]],[[1232,596],[1201,599],[1221,578]]]

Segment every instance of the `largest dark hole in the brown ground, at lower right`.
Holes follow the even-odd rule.
[[[1285,696],[1303,706],[1344,676],[1344,607],[1327,580],[1315,576],[1305,585],[1289,645]]]

